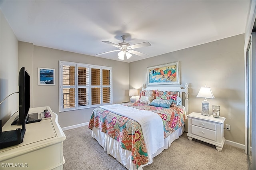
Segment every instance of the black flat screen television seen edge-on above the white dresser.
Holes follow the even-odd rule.
[[[25,128],[26,117],[30,109],[30,75],[25,67],[20,69],[19,73],[19,117],[17,125],[22,125]]]

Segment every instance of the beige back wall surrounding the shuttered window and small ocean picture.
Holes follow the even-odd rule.
[[[19,57],[24,61],[24,67],[28,67],[32,75],[32,102],[33,107],[50,106],[59,117],[60,127],[69,127],[89,122],[94,108],[68,111],[59,113],[59,82],[58,64],[61,61],[72,61],[112,67],[113,71],[113,103],[122,103],[129,100],[129,64],[89,55],[82,55],[58,49],[40,47],[31,43],[19,42]],[[32,54],[32,59],[30,58]],[[38,85],[38,67],[55,69],[55,86]]]

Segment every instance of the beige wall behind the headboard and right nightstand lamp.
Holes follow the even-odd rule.
[[[196,98],[200,86],[208,85],[215,99],[212,105],[220,105],[220,116],[226,117],[226,140],[244,144],[244,34],[210,42],[172,53],[130,63],[130,87],[146,84],[147,67],[180,61],[180,79],[184,87],[189,83],[189,112],[199,112],[203,101]]]

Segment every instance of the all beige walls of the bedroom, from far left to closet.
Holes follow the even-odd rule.
[[[50,106],[58,114],[60,126],[68,127],[88,122],[93,109],[58,112],[59,60],[113,67],[114,103],[129,100],[129,87],[140,89],[142,83],[146,84],[147,67],[180,61],[181,84],[184,87],[186,82],[190,83],[190,112],[200,112],[202,99],[195,98],[200,86],[204,84],[211,86],[215,99],[208,100],[210,101],[210,107],[212,105],[220,105],[220,115],[226,117],[225,124],[231,125],[230,131],[224,131],[225,138],[244,144],[243,35],[182,49],[133,63],[123,63],[39,47],[31,43],[18,42],[2,13],[0,28],[1,100],[8,94],[18,91],[18,71],[20,67],[26,67],[32,77],[32,107]],[[56,69],[55,86],[38,86],[38,67]],[[1,105],[1,119],[7,121],[10,115],[17,110],[18,97],[10,97]]]

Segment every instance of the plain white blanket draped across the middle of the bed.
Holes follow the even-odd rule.
[[[120,104],[100,106],[102,109],[128,117],[138,122],[148,150],[149,162],[152,162],[152,154],[164,146],[164,128],[161,117],[151,111],[135,109]]]

